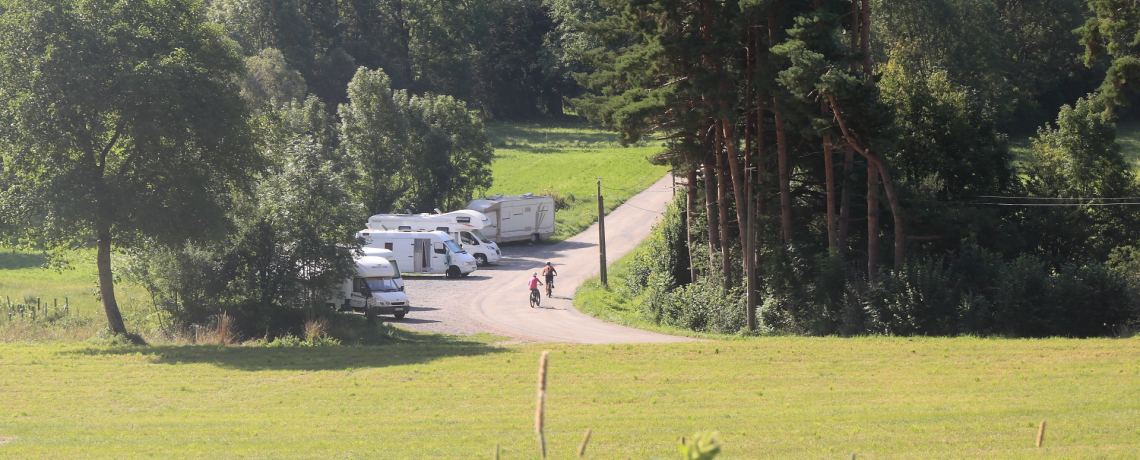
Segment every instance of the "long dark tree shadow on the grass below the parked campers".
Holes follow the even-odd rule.
[[[219,346],[219,345],[148,345],[83,348],[72,353],[105,356],[149,355],[155,364],[214,364],[227,369],[259,370],[347,370],[423,364],[442,358],[479,356],[502,353],[492,346],[500,337],[456,337],[397,330],[383,345],[342,346]]]

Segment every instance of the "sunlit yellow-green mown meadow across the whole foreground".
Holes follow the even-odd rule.
[[[1140,339],[762,338],[497,347],[0,345],[0,457],[552,459],[1140,455]],[[1041,420],[1045,447],[1035,449]],[[7,443],[5,443],[7,442]]]

